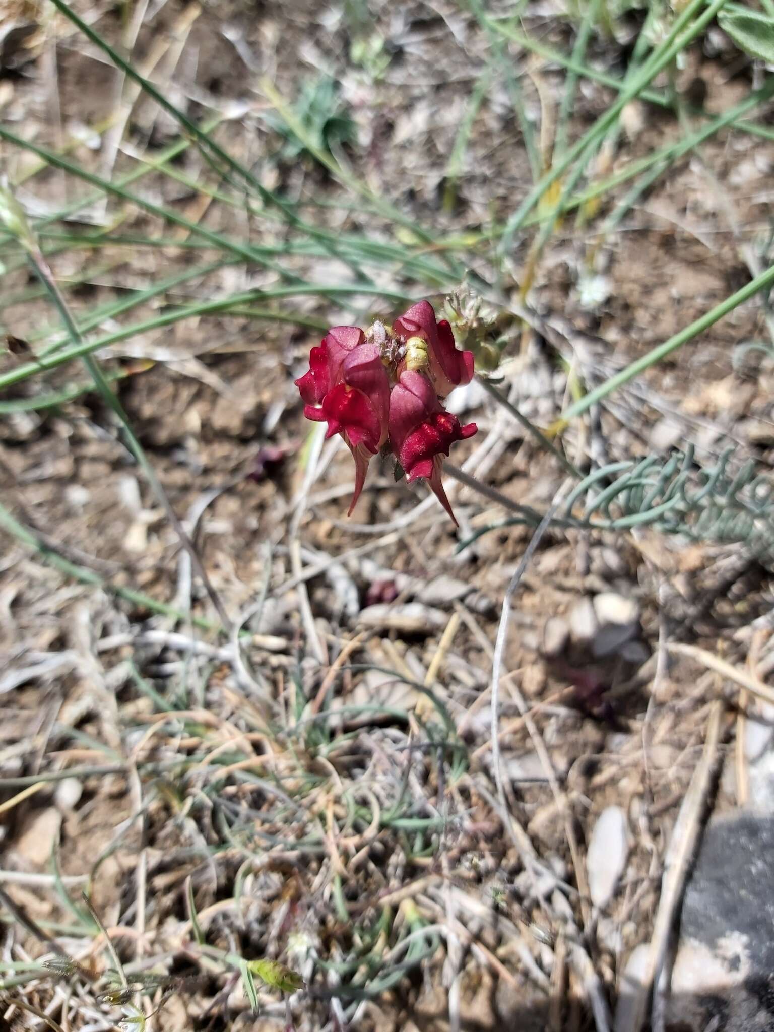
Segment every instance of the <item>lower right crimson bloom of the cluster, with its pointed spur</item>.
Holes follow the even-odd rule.
[[[475,423],[459,425],[457,417],[441,406],[433,385],[421,373],[400,374],[390,395],[392,450],[406,470],[407,482],[425,478],[455,523],[457,521],[441,482],[442,455],[449,454],[455,441],[472,438],[477,430]]]

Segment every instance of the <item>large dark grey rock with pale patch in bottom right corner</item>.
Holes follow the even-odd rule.
[[[683,900],[668,1027],[774,1029],[773,879],[774,817],[709,826]]]

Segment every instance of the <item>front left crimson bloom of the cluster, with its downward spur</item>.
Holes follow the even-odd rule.
[[[310,370],[296,380],[307,419],[327,421],[326,438],[341,433],[355,459],[355,508],[368,462],[387,440],[390,382],[379,348],[361,344],[362,330],[336,326],[310,353]],[[321,401],[320,408],[312,404]],[[349,515],[349,513],[348,513]]]

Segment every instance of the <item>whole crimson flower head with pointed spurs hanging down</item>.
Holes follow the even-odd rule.
[[[472,352],[457,351],[449,323],[436,321],[429,301],[412,305],[392,327],[333,326],[312,349],[309,373],[295,383],[304,416],[327,422],[328,438],[341,433],[355,459],[350,513],[368,462],[383,451],[394,454],[409,483],[426,479],[456,523],[441,483],[442,456],[477,426],[460,426],[441,402],[470,383],[473,362]]]

